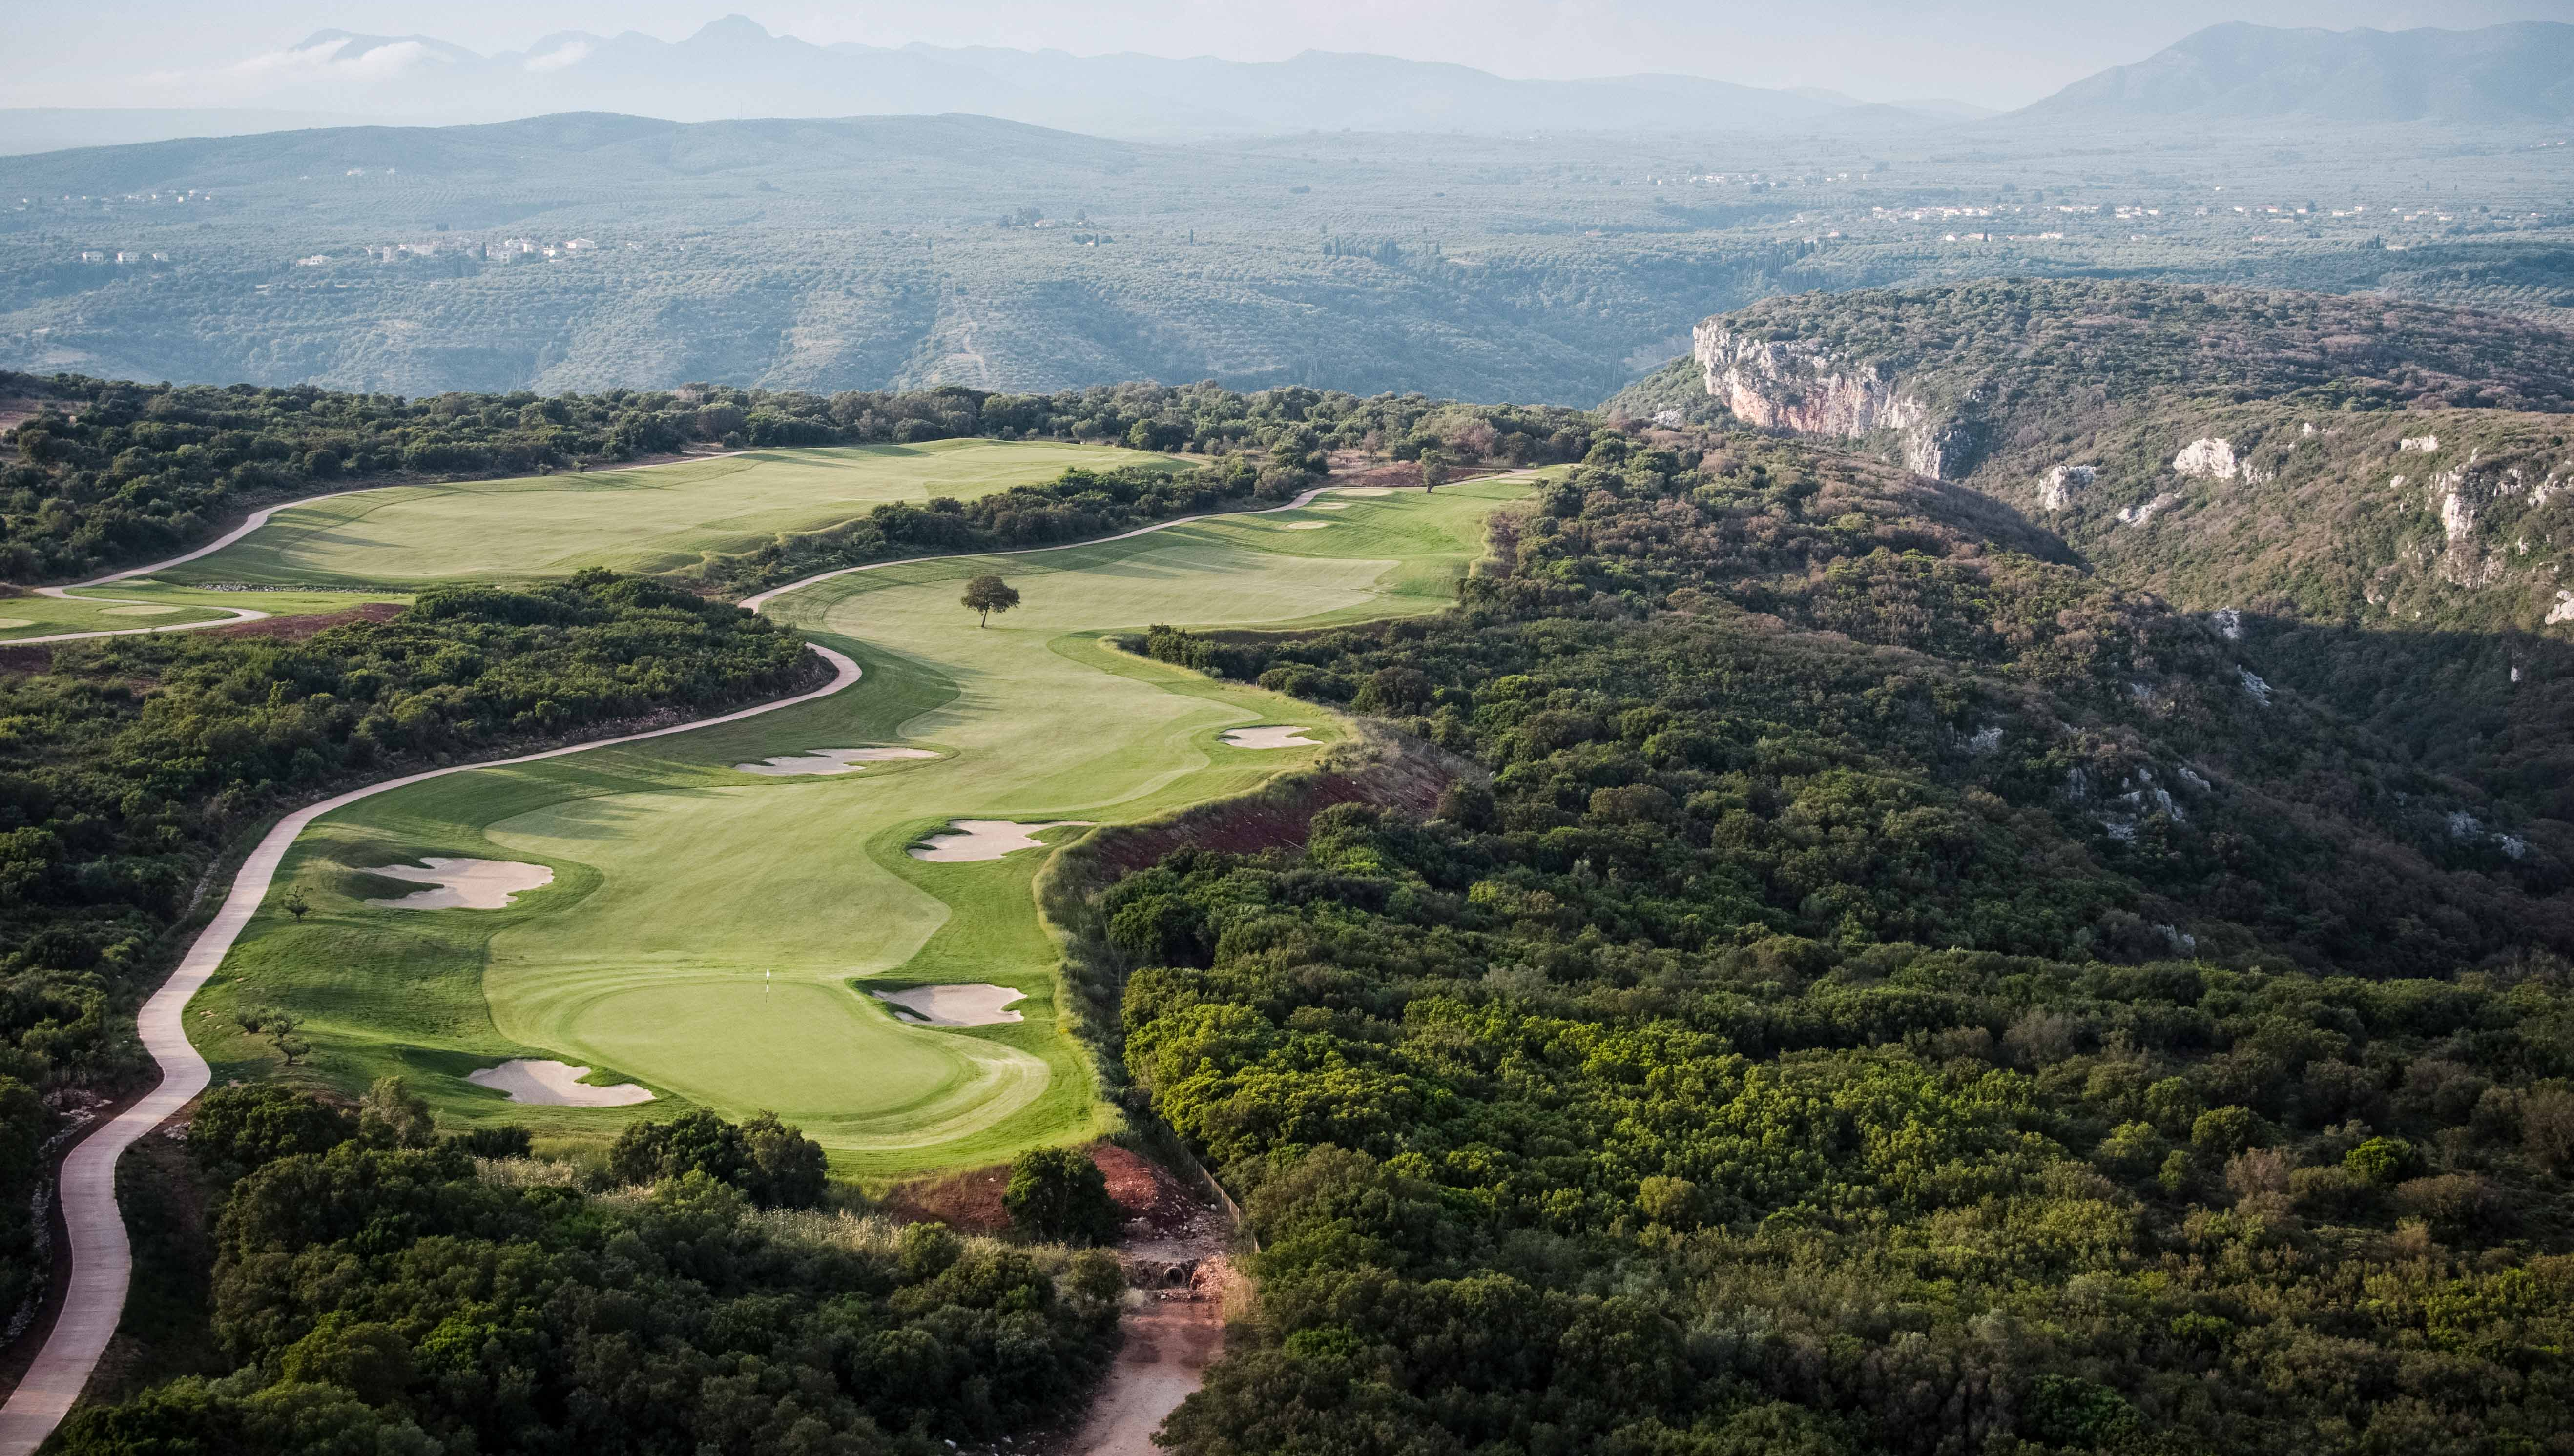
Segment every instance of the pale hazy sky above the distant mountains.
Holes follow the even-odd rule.
[[[2219,21],[2486,26],[2574,21],[2574,0],[82,0],[13,5],[0,105],[252,103],[232,67],[319,28],[425,33],[476,51],[553,31],[680,39],[739,8],[808,41],[1055,46],[1282,59],[1302,49],[1441,59],[1514,77],[1691,72],[1866,100],[2021,105]],[[229,87],[229,90],[227,90]]]

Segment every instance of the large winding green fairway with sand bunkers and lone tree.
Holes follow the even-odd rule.
[[[605,1137],[703,1104],[801,1124],[842,1176],[988,1163],[1109,1124],[1058,1026],[1058,947],[1032,880],[1045,849],[924,862],[958,818],[1122,823],[1243,792],[1315,746],[1236,749],[1228,728],[1338,725],[1313,705],[1115,651],[1153,623],[1323,625],[1441,610],[1483,517],[1529,481],[1436,496],[1326,494],[1127,540],[857,571],[767,612],[860,661],[834,697],[649,743],[463,772],[319,818],[190,1006],[214,1075],[278,1070],[242,1006],[304,1019],[296,1075],[363,1091],[399,1073],[443,1122]],[[1318,522],[1328,522],[1320,525]],[[242,543],[257,545],[257,538]],[[1022,605],[978,625],[968,576]],[[934,759],[762,777],[736,764],[909,746]],[[1081,823],[1042,831],[1045,844]],[[425,857],[538,864],[505,908],[368,905]],[[301,890],[306,913],[283,913]],[[1022,1021],[916,1026],[870,990],[991,983]],[[641,1083],[641,1106],[525,1106],[466,1080],[510,1057]]]

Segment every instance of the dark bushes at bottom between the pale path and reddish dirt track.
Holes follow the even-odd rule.
[[[1115,1351],[1115,1258],[808,1212],[775,1173],[819,1188],[821,1147],[775,1119],[633,1124],[582,1168],[435,1137],[394,1078],[355,1116],[237,1086],[188,1152],[224,1374],[80,1410],[64,1456],[927,1456],[1055,1415]]]

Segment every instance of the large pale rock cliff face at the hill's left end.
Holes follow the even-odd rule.
[[[1707,394],[1758,430],[1858,440],[1892,432],[1907,471],[1954,481],[1985,455],[1982,417],[1969,399],[1936,409],[1882,363],[1835,360],[1804,340],[1755,340],[1707,319],[1696,329]]]

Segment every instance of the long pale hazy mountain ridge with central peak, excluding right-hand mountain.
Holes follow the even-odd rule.
[[[659,41],[564,31],[484,57],[432,36],[319,31],[227,72],[263,108],[378,121],[618,111],[669,121],[978,113],[1102,136],[1290,131],[1887,131],[1987,116],[1956,100],[1871,105],[1689,75],[1506,80],[1459,64],[1305,51],[1287,62],[1073,57],[999,46],[819,46],[726,15]],[[0,113],[0,121],[26,113]],[[10,131],[13,126],[0,126]],[[229,131],[229,129],[227,129]],[[162,136],[206,131],[162,131]],[[136,141],[131,129],[100,141]],[[23,147],[0,147],[8,152]]]

